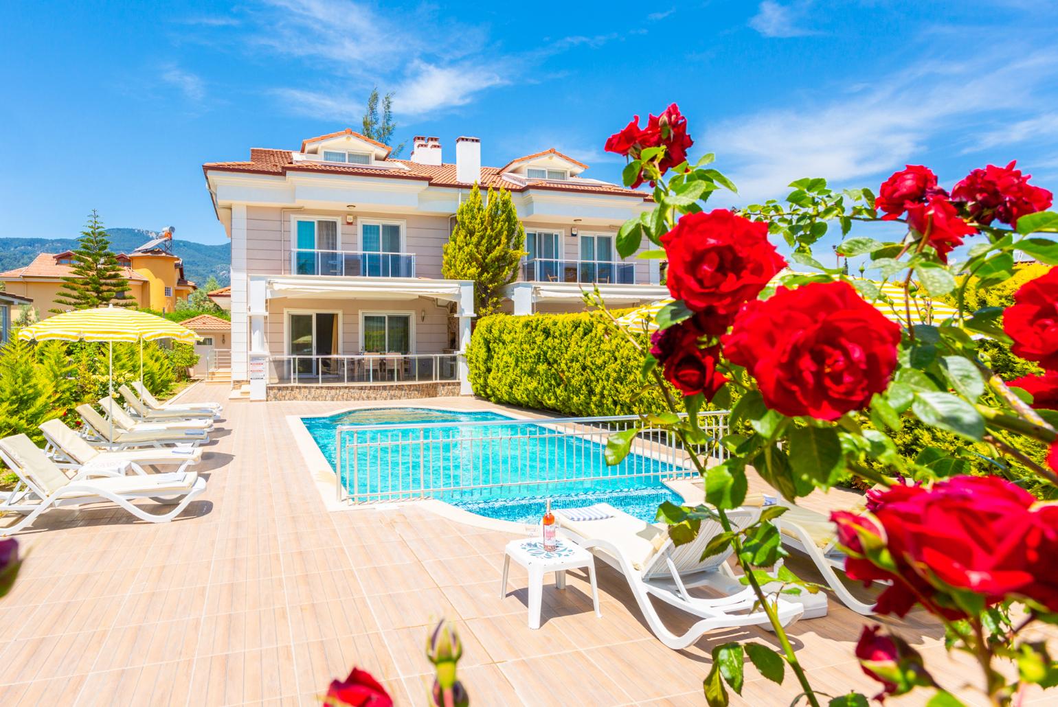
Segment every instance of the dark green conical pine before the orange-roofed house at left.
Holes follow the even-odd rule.
[[[110,250],[110,239],[103,229],[99,215],[93,209],[80,231],[80,245],[74,250],[71,275],[62,278],[62,285],[55,298],[59,306],[86,310],[113,302],[118,306],[131,306],[135,302],[122,299],[128,292],[129,282],[122,276],[117,256]],[[53,313],[66,310],[51,310]]]

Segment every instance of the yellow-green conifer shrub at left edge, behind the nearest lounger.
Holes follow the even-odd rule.
[[[41,442],[37,426],[58,416],[52,405],[54,394],[54,387],[34,362],[33,348],[12,337],[0,349],[0,438],[29,434]]]

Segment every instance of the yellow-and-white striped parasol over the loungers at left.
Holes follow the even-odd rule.
[[[195,343],[198,334],[175,321],[124,306],[101,306],[94,310],[73,310],[42,319],[19,330],[18,338],[26,341],[107,341],[110,345],[110,395],[114,394],[114,341],[140,342],[140,383],[143,383],[143,342],[174,339]],[[111,439],[113,439],[111,417]]]

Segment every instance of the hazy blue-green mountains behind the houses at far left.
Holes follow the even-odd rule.
[[[131,253],[158,234],[144,228],[107,228],[110,249]],[[0,272],[23,267],[40,253],[62,253],[77,247],[76,238],[0,238]],[[172,252],[184,261],[184,277],[202,286],[214,276],[225,286],[231,280],[232,245],[209,245],[196,241],[172,241]]]

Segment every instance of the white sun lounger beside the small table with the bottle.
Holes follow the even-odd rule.
[[[564,517],[560,509],[555,513],[559,527],[569,540],[594,552],[624,575],[646,624],[662,644],[673,650],[681,650],[710,631],[770,626],[763,610],[754,611],[756,596],[753,590],[743,587],[728,566],[727,558],[731,551],[701,557],[709,541],[723,533],[718,522],[703,521],[697,538],[677,547],[661,526],[641,521],[608,504],[595,507],[610,517],[572,521]],[[756,516],[756,510],[748,508],[728,511],[728,518],[735,527],[749,525]],[[707,587],[723,596],[692,596],[688,590],[696,587]],[[665,628],[651,597],[701,620],[682,635],[677,635]],[[801,604],[778,596],[776,610],[783,626],[792,624],[804,613]]]

